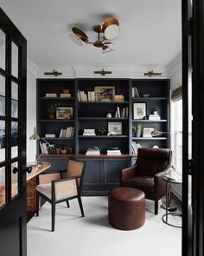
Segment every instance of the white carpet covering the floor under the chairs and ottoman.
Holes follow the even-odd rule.
[[[28,256],[181,256],[182,229],[168,226],[159,207],[146,200],[146,221],[133,231],[121,231],[107,220],[107,197],[82,197],[85,218],[77,200],[70,208],[56,208],[55,231],[50,232],[51,211],[46,203],[39,217],[28,223]]]

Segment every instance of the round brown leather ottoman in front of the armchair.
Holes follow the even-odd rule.
[[[113,188],[108,194],[108,220],[118,229],[132,230],[145,221],[145,195],[131,187]]]

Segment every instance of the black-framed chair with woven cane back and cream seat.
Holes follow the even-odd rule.
[[[84,210],[80,198],[81,188],[83,184],[85,164],[80,161],[69,161],[67,167],[66,178],[62,178],[62,172],[54,174],[41,174],[36,186],[36,216],[39,216],[39,200],[40,197],[47,200],[52,205],[52,231],[54,231],[55,223],[55,206],[63,201],[78,199],[80,212],[84,217]],[[66,171],[66,170],[65,170]]]

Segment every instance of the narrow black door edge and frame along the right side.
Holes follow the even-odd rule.
[[[182,256],[202,256],[204,255],[203,0],[182,0],[182,88]],[[192,118],[188,115],[191,110]],[[189,136],[190,134],[192,136]]]

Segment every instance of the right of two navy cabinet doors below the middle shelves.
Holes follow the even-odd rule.
[[[131,162],[129,159],[105,159],[105,184],[119,185],[119,171],[130,165]]]

